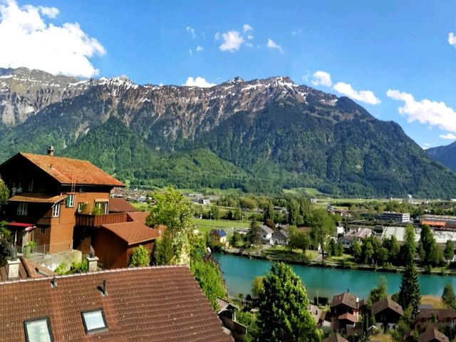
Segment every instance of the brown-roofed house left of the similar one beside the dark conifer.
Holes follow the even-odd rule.
[[[333,330],[346,331],[349,327],[354,327],[360,318],[362,303],[358,297],[348,292],[333,296],[329,306]]]

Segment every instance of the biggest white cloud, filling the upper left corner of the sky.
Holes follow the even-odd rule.
[[[98,69],[89,59],[105,54],[105,48],[77,23],[56,26],[41,17],[53,19],[57,15],[54,7],[19,7],[14,0],[0,4],[0,66],[24,66],[68,76],[97,75]]]

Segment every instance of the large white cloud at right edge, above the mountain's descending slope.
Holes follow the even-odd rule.
[[[445,103],[427,99],[417,101],[412,94],[392,89],[388,89],[386,95],[394,100],[404,102],[404,105],[398,110],[400,114],[408,116],[409,123],[417,120],[419,123],[456,132],[456,112]]]

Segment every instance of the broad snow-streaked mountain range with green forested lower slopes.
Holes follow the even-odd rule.
[[[0,160],[48,145],[133,184],[456,193],[455,174],[397,123],[284,76],[199,88],[0,68]]]

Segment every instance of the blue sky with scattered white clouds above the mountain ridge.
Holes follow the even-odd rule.
[[[278,2],[4,1],[12,52],[0,66],[140,84],[290,76],[350,96],[422,147],[456,140],[454,1]]]

